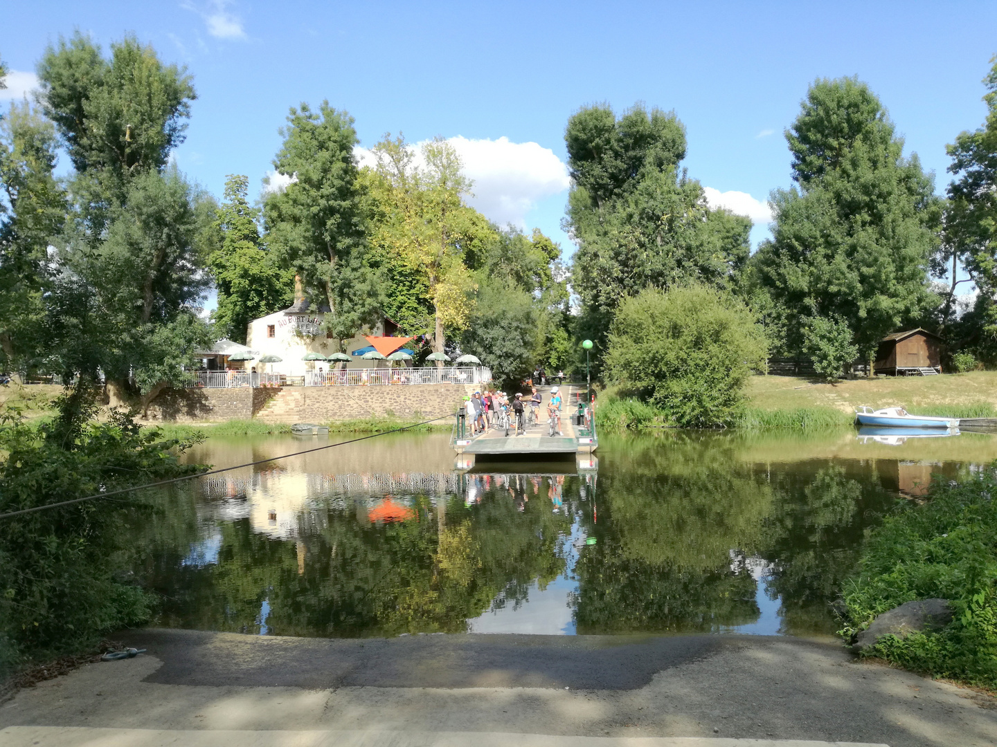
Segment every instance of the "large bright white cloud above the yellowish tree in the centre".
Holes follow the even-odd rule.
[[[448,138],[464,161],[464,173],[475,183],[468,202],[489,220],[524,229],[526,214],[540,200],[566,191],[571,185],[567,166],[553,150],[536,142],[512,142],[508,137],[469,139]],[[417,153],[423,143],[413,147]],[[355,150],[361,166],[374,166],[371,151]],[[416,163],[421,157],[417,155]]]

